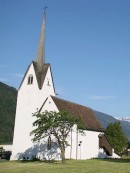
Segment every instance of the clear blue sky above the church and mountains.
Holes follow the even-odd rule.
[[[130,117],[130,0],[0,0],[0,82],[18,89],[35,60],[45,4],[58,97]]]

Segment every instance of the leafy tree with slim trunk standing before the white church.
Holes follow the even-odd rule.
[[[61,151],[62,163],[65,162],[65,148],[68,146],[67,137],[72,129],[72,127],[77,124],[78,126],[84,126],[83,121],[78,116],[73,116],[68,111],[60,112],[48,112],[43,113],[36,112],[33,114],[37,119],[33,123],[33,126],[36,127],[31,132],[31,135],[34,135],[33,141],[40,141],[42,138],[49,137],[54,135],[57,139],[57,144]],[[48,142],[49,142],[48,138]],[[48,144],[50,145],[50,144]],[[48,146],[49,147],[49,146]]]

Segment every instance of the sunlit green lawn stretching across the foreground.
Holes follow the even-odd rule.
[[[68,160],[61,162],[0,162],[0,173],[130,173],[130,159]]]

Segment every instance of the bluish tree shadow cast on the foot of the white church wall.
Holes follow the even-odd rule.
[[[36,144],[27,149],[23,153],[17,154],[18,160],[32,160],[38,158],[40,160],[61,160],[60,150],[56,142],[51,143],[51,149],[47,149],[47,144]]]

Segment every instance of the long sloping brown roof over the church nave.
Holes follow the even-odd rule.
[[[51,96],[59,111],[68,110],[75,116],[80,116],[85,123],[86,129],[93,131],[104,131],[99,121],[96,119],[92,109],[66,101],[55,96]]]

